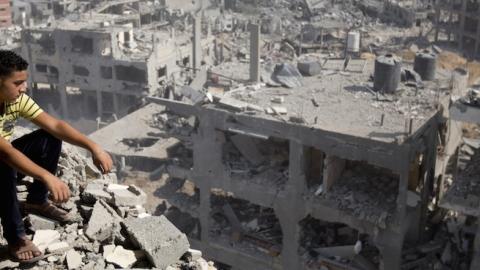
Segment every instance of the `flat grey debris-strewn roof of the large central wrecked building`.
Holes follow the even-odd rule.
[[[343,59],[331,59],[323,65],[322,74],[304,77],[303,86],[295,88],[244,86],[226,92],[229,99],[251,104],[263,109],[284,107],[288,114],[268,115],[256,111],[254,117],[288,122],[289,117],[303,118],[307,126],[342,134],[351,134],[384,142],[402,141],[406,135],[406,122],[412,118],[412,134],[424,126],[438,112],[436,104],[445,94],[437,93],[433,83],[425,82],[424,89],[401,84],[395,95],[382,95],[372,90],[369,81],[373,74],[373,62],[351,60],[346,71]],[[213,68],[213,71],[231,76],[240,82],[248,81],[248,64],[229,64]],[[363,72],[362,72],[363,70]],[[441,86],[448,84],[448,75],[439,72]],[[265,76],[269,73],[262,73]],[[283,104],[275,104],[275,98],[283,97]],[[206,105],[223,109],[220,104]],[[383,116],[383,125],[381,119]]]

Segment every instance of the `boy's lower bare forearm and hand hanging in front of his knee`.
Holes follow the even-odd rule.
[[[54,202],[66,202],[70,197],[68,186],[58,177],[38,166],[0,136],[0,159],[25,175],[42,181],[50,190]],[[5,179],[0,179],[0,181]]]

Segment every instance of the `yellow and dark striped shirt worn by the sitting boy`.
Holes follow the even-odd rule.
[[[7,141],[12,137],[18,117],[31,121],[43,112],[26,94],[22,94],[14,102],[3,103],[3,106],[3,114],[0,115],[0,135]]]

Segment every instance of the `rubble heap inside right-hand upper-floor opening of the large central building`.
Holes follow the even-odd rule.
[[[398,178],[365,171],[362,166],[346,171],[324,198],[360,220],[386,228],[395,213]]]

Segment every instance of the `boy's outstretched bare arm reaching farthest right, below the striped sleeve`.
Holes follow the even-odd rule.
[[[89,150],[90,153],[92,153],[95,166],[97,166],[102,173],[108,173],[112,169],[113,161],[110,155],[98,144],[94,143],[66,122],[52,117],[46,112],[42,112],[35,117],[32,122],[60,140]]]

